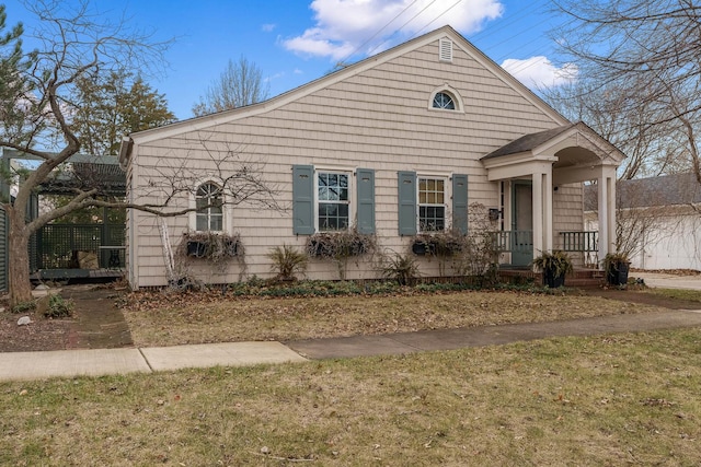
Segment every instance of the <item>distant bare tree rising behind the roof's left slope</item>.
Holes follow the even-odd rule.
[[[207,89],[193,107],[196,117],[229,110],[265,101],[269,85],[263,81],[261,69],[245,57],[229,60],[227,69]]]

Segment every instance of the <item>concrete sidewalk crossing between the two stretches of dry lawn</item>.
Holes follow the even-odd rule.
[[[10,352],[0,357],[0,382],[48,377],[152,373],[186,367],[243,366],[303,362],[509,342],[562,336],[646,331],[701,326],[701,311],[614,315],[565,322],[440,329],[382,336],[280,342],[230,342],[143,349],[60,350]]]

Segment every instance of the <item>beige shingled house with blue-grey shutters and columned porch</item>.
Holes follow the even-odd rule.
[[[423,231],[469,231],[472,203],[495,213],[501,260],[527,267],[581,237],[583,182],[591,179],[606,254],[623,156],[445,26],[266,102],[126,138],[119,157],[129,200],[169,202],[173,213],[130,210],[128,279],[134,288],[165,285],[169,245],[200,230],[239,234],[245,247],[244,260],[223,270],[189,265],[209,282],[272,277],[271,248],[301,249],[310,235],[349,225],[376,235],[382,252],[404,254]],[[222,183],[245,183],[255,171],[281,209],[257,192],[246,200],[257,203],[243,202],[249,192],[221,192]],[[209,208],[176,214],[197,206]],[[438,273],[436,261],[420,260],[424,276]],[[337,278],[336,268],[312,260],[307,277]],[[358,258],[345,276],[375,278],[378,268]]]

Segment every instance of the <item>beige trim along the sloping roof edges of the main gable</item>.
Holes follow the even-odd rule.
[[[503,81],[530,104],[538,107],[540,112],[552,118],[555,125],[570,124],[565,117],[553,109],[549,104],[538,97],[533,92],[526,87],[520,81],[516,80],[491,58],[484,55],[481,50],[474,47],[468,39],[466,39],[460,33],[453,30],[451,26],[444,26],[427,33],[423,36],[416,37],[403,44],[400,44],[391,49],[366,58],[357,63],[350,65],[342,70],[330,73],[325,77],[319,78],[314,81],[310,81],[299,87],[285,92],[278,96],[272,97],[267,101],[239,107],[230,110],[220,112],[217,114],[206,115],[203,117],[195,117],[186,120],[176,121],[174,124],[165,125],[163,127],[153,128],[136,133],[129,135],[123,141],[123,147],[119,151],[119,163],[125,164],[129,156],[133,143],[147,143],[159,139],[177,136],[193,130],[204,130],[217,125],[222,125],[231,121],[235,121],[241,118],[251,117],[254,115],[263,114],[276,108],[279,108],[290,102],[295,102],[303,96],[312,94],[319,90],[338,83],[346,80],[349,77],[361,73],[371,69],[380,63],[384,63],[399,56],[402,56],[409,51],[416,50],[430,43],[438,40],[441,37],[447,37],[453,42],[453,45],[460,47],[467,55],[478,61],[484,69],[491,71],[494,77]]]

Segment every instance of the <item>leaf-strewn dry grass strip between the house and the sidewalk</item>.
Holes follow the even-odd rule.
[[[138,293],[123,308],[137,347],[287,341],[551,322],[654,310],[596,296],[475,291],[295,299]]]

